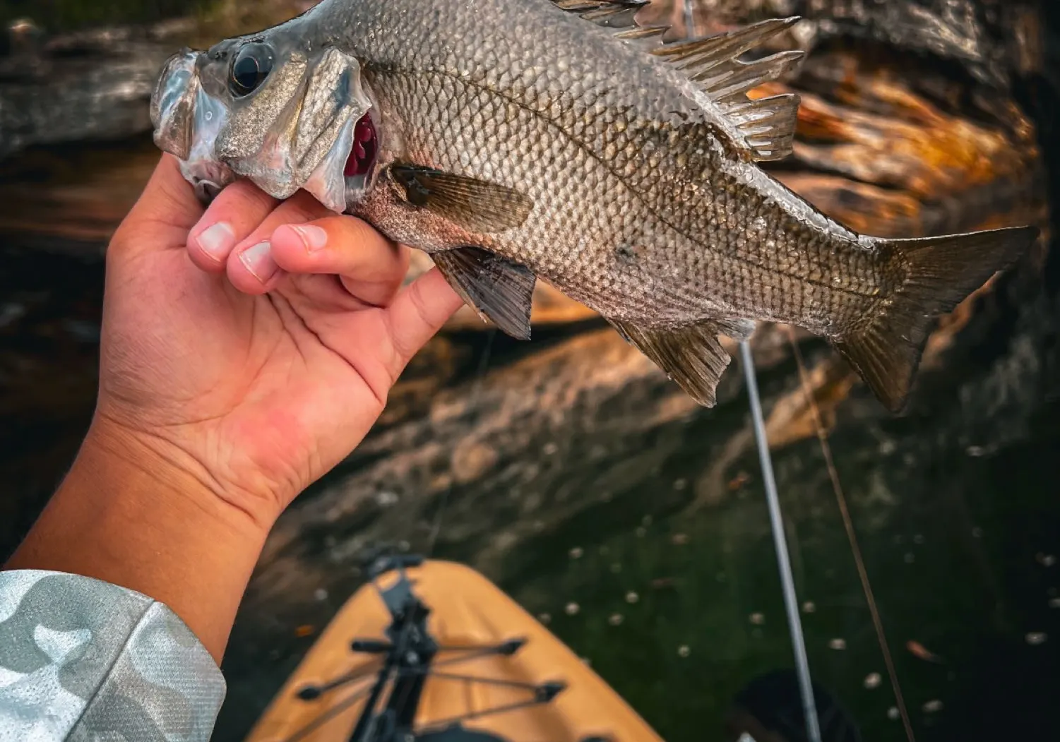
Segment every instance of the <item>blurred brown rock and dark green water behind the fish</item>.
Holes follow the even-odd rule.
[[[158,158],[147,101],[161,63],[312,4],[0,2],[0,554],[91,416],[104,250]],[[1060,7],[656,0],[652,13],[674,36],[803,16],[779,43],[807,64],[762,91],[802,96],[795,154],[771,170],[851,228],[1043,228],[939,323],[901,418],[819,340],[763,325],[753,346],[829,703],[865,740],[907,739],[837,480],[916,739],[1057,739]],[[412,275],[428,266],[418,255]],[[484,572],[671,742],[735,740],[735,709],[794,703],[767,683],[741,694],[793,660],[739,366],[705,410],[547,286],[534,323],[522,343],[461,311],[365,444],[283,517],[225,659],[215,740],[242,739],[377,543]]]

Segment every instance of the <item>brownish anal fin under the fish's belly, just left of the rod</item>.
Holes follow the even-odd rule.
[[[615,319],[607,321],[699,404],[714,406],[718,383],[731,360],[718,340],[721,328],[717,322],[654,330]]]

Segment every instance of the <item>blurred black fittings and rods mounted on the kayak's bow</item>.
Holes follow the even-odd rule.
[[[384,632],[385,639],[353,639],[350,649],[354,653],[381,656],[382,666],[377,671],[373,671],[375,678],[370,686],[353,692],[284,742],[299,742],[325,721],[351,708],[366,695],[365,707],[350,735],[350,742],[511,742],[496,735],[467,729],[463,726],[463,722],[546,705],[566,690],[567,686],[562,681],[519,683],[439,670],[440,667],[455,666],[487,656],[511,657],[526,646],[527,639],[516,637],[495,644],[439,644],[427,628],[430,608],[412,589],[412,581],[406,571],[407,568],[421,566],[425,561],[424,558],[418,554],[400,554],[390,547],[384,547],[373,550],[366,561],[369,580],[390,614],[390,624]],[[396,572],[398,579],[390,587],[384,588],[379,578],[389,572]],[[439,659],[439,655],[443,654],[456,656]],[[325,693],[364,682],[372,674],[372,672],[350,673],[322,685],[303,686],[297,696],[303,702],[312,703]],[[428,677],[504,686],[526,691],[526,697],[434,721],[422,728],[416,728],[416,717]],[[385,693],[387,693],[386,702],[381,706]],[[602,742],[602,740],[590,738],[582,742]]]

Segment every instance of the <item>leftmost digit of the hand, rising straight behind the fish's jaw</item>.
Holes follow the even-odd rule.
[[[180,173],[179,161],[165,153],[114,233],[112,244],[119,250],[182,247],[188,230],[202,216],[202,211],[195,190]],[[129,238],[134,235],[137,238]]]

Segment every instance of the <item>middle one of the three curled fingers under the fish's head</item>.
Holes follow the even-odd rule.
[[[305,191],[299,191],[268,214],[231,251],[226,263],[228,280],[244,294],[266,294],[285,272],[272,257],[272,232],[285,224],[305,224],[334,213]]]

